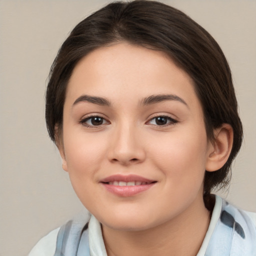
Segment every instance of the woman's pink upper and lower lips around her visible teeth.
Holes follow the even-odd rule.
[[[124,182],[131,182],[131,181],[140,181],[143,182],[143,184],[140,185],[125,185],[125,186],[120,186],[120,185],[113,185],[113,184],[108,184],[107,182],[112,182],[112,181],[124,181]],[[130,174],[130,175],[120,175],[120,174],[115,174],[108,176],[106,178],[103,178],[100,180],[100,183],[104,188],[118,196],[133,196],[138,193],[141,193],[149,188],[151,188],[155,183],[156,180],[144,178],[142,176]]]

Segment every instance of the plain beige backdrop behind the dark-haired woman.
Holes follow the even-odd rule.
[[[44,123],[50,65],[72,27],[106,0],[0,0],[0,256],[25,256],[83,209]],[[244,143],[229,192],[256,211],[256,1],[165,0],[208,30],[233,73]]]

